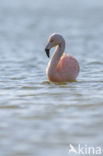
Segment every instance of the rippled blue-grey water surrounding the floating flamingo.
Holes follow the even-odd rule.
[[[47,80],[54,32],[77,82]],[[69,144],[103,146],[103,1],[0,0],[0,156],[71,156]]]

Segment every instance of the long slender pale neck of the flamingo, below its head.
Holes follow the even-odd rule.
[[[56,50],[49,62],[49,69],[48,69],[49,73],[53,74],[56,72],[57,64],[58,64],[61,56],[63,55],[64,50],[65,50],[65,41],[63,41],[60,45],[58,45],[56,47]]]

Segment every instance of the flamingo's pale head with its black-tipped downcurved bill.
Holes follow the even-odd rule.
[[[61,46],[62,43],[65,44],[65,41],[64,41],[64,38],[62,37],[62,35],[57,34],[57,33],[52,34],[49,37],[48,43],[45,48],[45,52],[46,52],[47,56],[49,57],[51,48],[56,47],[56,46]]]

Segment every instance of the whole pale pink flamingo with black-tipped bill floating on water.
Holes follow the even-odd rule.
[[[56,50],[46,68],[48,79],[52,82],[75,81],[79,74],[80,67],[74,57],[63,54],[65,50],[65,40],[60,34],[54,33],[49,37],[48,44],[45,48],[48,57],[52,47],[56,47]]]

